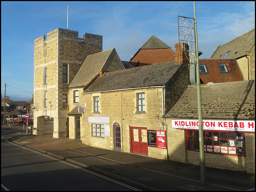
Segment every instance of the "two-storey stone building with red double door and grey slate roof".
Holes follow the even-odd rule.
[[[69,137],[93,147],[165,159],[166,139],[156,140],[166,134],[163,115],[188,84],[188,66],[175,61],[105,72],[80,90],[81,105],[69,113]]]

